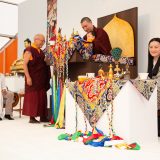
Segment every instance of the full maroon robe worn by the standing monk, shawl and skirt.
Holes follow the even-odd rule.
[[[32,79],[32,86],[28,86],[25,77],[25,96],[23,115],[32,117],[47,116],[47,90],[50,88],[50,67],[44,62],[45,55],[34,47],[25,51],[32,54],[32,60],[28,63],[28,71]]]

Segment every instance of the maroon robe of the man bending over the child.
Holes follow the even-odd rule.
[[[93,41],[93,54],[111,55],[112,49],[108,34],[102,28],[93,28],[95,39]],[[87,39],[87,36],[84,36]]]

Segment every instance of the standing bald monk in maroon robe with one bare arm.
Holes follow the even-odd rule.
[[[30,123],[47,120],[47,90],[50,88],[50,67],[46,65],[45,55],[40,49],[45,42],[41,34],[34,37],[34,43],[24,52],[25,96],[23,115],[30,116]]]

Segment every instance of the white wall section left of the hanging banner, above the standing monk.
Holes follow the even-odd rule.
[[[24,50],[24,40],[37,33],[46,35],[47,32],[47,3],[46,0],[27,0],[18,6],[18,57]]]

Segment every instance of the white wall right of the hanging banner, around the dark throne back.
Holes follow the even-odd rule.
[[[159,0],[58,0],[58,26],[67,37],[72,28],[84,34],[80,20],[88,16],[97,24],[97,18],[138,7],[138,71],[147,71],[148,41],[160,37]]]

